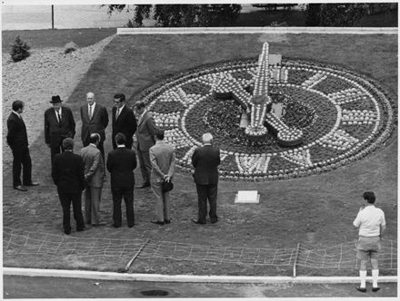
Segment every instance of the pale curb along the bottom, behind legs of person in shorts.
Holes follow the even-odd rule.
[[[195,276],[161,274],[120,274],[65,269],[40,269],[3,267],[4,276],[65,277],[97,280],[150,281],[150,282],[195,282],[195,283],[358,283],[359,277],[255,277],[255,276]],[[368,282],[372,277],[366,278]],[[396,283],[396,276],[379,277],[381,283]]]

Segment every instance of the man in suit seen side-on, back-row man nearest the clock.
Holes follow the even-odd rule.
[[[138,188],[150,187],[150,173],[152,164],[150,162],[149,150],[155,145],[155,120],[151,112],[145,109],[145,102],[135,103],[135,112],[138,116],[136,140],[137,156],[139,157],[140,170],[142,171],[143,184]]]

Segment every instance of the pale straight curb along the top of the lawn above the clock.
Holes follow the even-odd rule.
[[[137,27],[116,34],[398,34],[397,27]]]

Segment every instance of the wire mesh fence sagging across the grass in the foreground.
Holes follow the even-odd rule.
[[[163,258],[189,262],[214,262],[248,266],[307,267],[315,269],[358,269],[355,241],[319,249],[210,247],[149,239],[74,238],[4,227],[3,254],[44,257],[121,257],[128,260]],[[397,241],[382,240],[381,270],[397,268]]]

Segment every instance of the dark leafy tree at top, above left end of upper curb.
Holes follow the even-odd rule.
[[[104,5],[103,5],[104,6]],[[129,12],[129,5],[106,5],[108,14]],[[163,27],[218,26],[234,24],[241,5],[135,5],[130,27],[143,26],[143,20],[154,11],[153,18]]]

